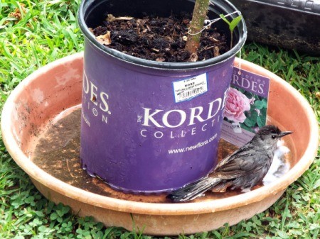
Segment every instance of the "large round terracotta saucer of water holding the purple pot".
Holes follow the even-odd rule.
[[[135,225],[149,235],[190,234],[233,225],[274,204],[316,155],[319,130],[308,102],[276,75],[241,60],[242,69],[271,79],[269,123],[294,131],[285,139],[291,150],[282,159],[282,165],[289,165],[287,172],[245,194],[207,193],[183,204],[167,201],[165,194],[114,191],[80,167],[82,67],[82,53],[78,53],[37,70],[14,89],[1,118],[4,143],[16,163],[44,196],[69,205],[79,216],[93,216],[106,226],[128,230]],[[220,141],[220,158],[233,150]]]

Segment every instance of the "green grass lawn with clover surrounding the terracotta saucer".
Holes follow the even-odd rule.
[[[16,85],[48,62],[83,49],[79,1],[0,1],[0,108]],[[306,97],[319,121],[317,57],[247,43],[243,58],[278,74]],[[319,95],[319,93],[318,93]],[[319,154],[318,154],[319,155]],[[270,209],[235,226],[174,238],[320,238],[320,158]],[[105,228],[45,199],[0,138],[0,238],[152,238]]]

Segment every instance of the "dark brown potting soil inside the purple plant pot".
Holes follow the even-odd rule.
[[[145,16],[141,19],[109,14],[100,26],[90,30],[100,43],[134,57],[158,62],[188,62],[190,53],[184,48],[190,21],[188,13],[168,18]],[[228,50],[225,33],[217,30],[214,24],[203,30],[198,61],[216,57]]]

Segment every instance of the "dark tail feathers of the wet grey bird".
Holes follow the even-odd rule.
[[[171,199],[174,202],[183,202],[196,199],[196,197],[201,196],[205,191],[212,189],[216,184],[221,182],[219,178],[213,177],[203,177],[198,179],[196,182],[191,182],[181,187],[181,189],[176,189],[172,191],[171,194],[166,196],[167,199]]]

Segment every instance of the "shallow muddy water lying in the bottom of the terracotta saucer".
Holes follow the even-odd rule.
[[[115,191],[98,178],[90,177],[80,165],[80,116],[81,110],[80,107],[77,107],[60,113],[58,118],[55,118],[48,123],[48,126],[43,130],[31,155],[31,160],[33,160],[38,167],[67,184],[95,194],[129,201],[151,203],[170,202],[166,199],[166,194],[125,194],[121,191]],[[234,145],[231,145],[225,140],[220,140],[218,152],[219,160],[236,149],[237,148]],[[277,178],[281,177],[290,167],[292,167],[292,154],[285,152],[287,152],[285,146],[280,147],[280,150],[276,154],[277,157],[274,158],[274,163],[272,164],[270,172],[265,178],[265,184],[274,182],[274,180],[277,180]],[[257,187],[261,186],[262,185]],[[241,192],[226,191],[224,193],[214,194],[207,192],[206,196],[201,196],[194,201],[223,199],[237,194],[241,194]]]

